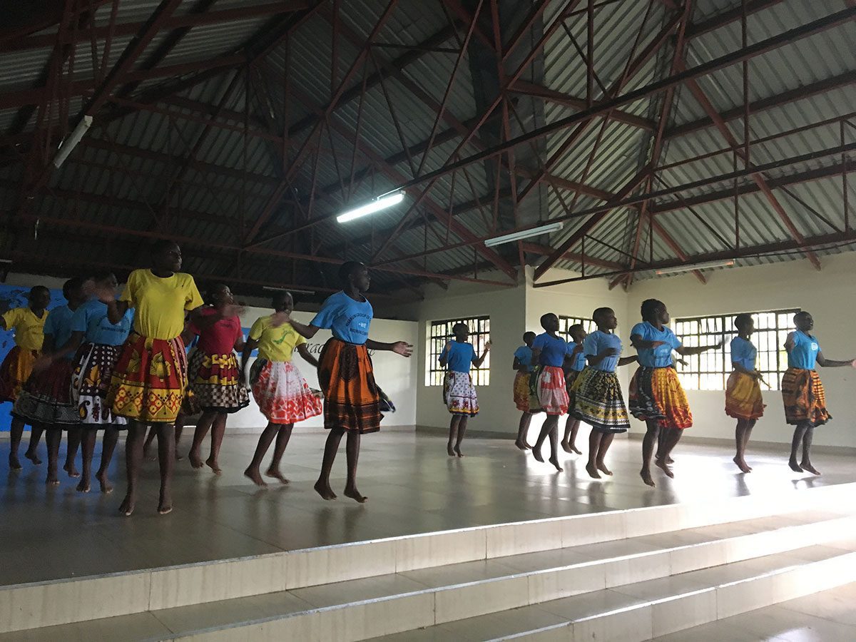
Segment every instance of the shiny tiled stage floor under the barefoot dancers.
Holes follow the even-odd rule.
[[[62,484],[45,487],[45,464],[25,460],[23,471],[10,473],[8,441],[0,441],[0,542],[15,553],[4,556],[0,585],[856,481],[856,467],[845,455],[818,454],[814,463],[823,477],[816,478],[790,471],[784,448],[756,450],[747,458],[754,471],[744,475],[728,449],[687,444],[675,451],[675,479],[657,472],[651,489],[639,479],[638,441],[616,440],[607,462],[615,475],[594,480],[580,455],[565,455],[565,470],[556,473],[510,441],[467,439],[467,456],[457,459],[446,455],[437,433],[390,430],[363,439],[359,486],[369,500],[360,505],[341,495],[324,502],[312,490],[323,431],[295,432],[282,467],[291,483],[270,480],[268,490],[242,475],[255,443],[253,435],[227,436],[219,477],[206,467],[193,470],[187,460],[176,462],[175,510],[165,516],[155,510],[157,463],[146,462],[137,511],[125,518],[116,510],[124,485],[121,443],[110,470],[116,490],[104,496],[77,492],[77,480],[64,473]],[[181,452],[188,445],[186,436]],[[344,467],[342,449],[332,480],[337,492]]]

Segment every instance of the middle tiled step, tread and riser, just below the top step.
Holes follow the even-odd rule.
[[[834,538],[835,533],[854,531],[856,517],[804,511],[217,603],[152,609],[148,614],[9,633],[0,635],[0,641],[91,639],[93,634],[104,633],[110,623],[122,630],[123,639],[229,639],[239,635],[252,639],[365,639],[640,580],[668,580],[670,574],[800,549]]]

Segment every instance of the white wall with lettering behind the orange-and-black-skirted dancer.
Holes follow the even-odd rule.
[[[241,315],[241,326],[249,328],[253,322],[259,318],[270,314],[269,308],[247,307],[247,311]],[[312,312],[294,312],[294,319],[304,324],[308,324],[314,314]],[[380,342],[395,342],[406,341],[409,343],[416,342],[417,325],[413,321],[390,321],[384,318],[372,319],[372,327],[369,336],[375,341]],[[318,334],[312,337],[309,342],[309,350],[318,359],[318,354],[324,343],[330,338],[330,330],[319,330]],[[416,360],[405,359],[399,354],[389,352],[377,352],[372,355],[374,364],[375,378],[383,392],[389,395],[389,398],[395,403],[395,413],[388,414],[384,417],[382,427],[393,425],[415,425],[416,423]],[[247,366],[247,372],[252,367],[253,360]],[[318,385],[318,372],[310,366],[300,354],[294,353],[294,365],[298,367],[300,372],[306,377],[306,382],[310,387],[320,389]],[[243,410],[229,416],[228,431],[260,431],[267,424],[262,413],[259,413],[259,407],[253,401],[253,395],[250,395],[250,405]],[[300,425],[299,428],[323,428],[324,417],[318,416],[308,419]]]

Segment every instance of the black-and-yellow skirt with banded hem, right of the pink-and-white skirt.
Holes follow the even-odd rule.
[[[621,383],[615,372],[584,369],[574,382],[574,417],[598,432],[627,432],[630,417],[621,395]]]

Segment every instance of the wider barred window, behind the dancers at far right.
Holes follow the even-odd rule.
[[[799,308],[753,312],[755,333],[752,343],[758,348],[756,367],[764,375],[770,389],[779,389],[782,372],[788,370],[788,353],[785,339],[793,330],[794,314]],[[684,357],[688,366],[678,366],[681,385],[687,390],[724,390],[728,375],[734,370],[731,365],[731,340],[737,336],[734,318],[737,314],[715,317],[678,318],[672,326],[675,334],[687,348],[708,346],[725,339],[722,348],[708,350],[702,354]],[[762,389],[766,387],[762,384]]]

